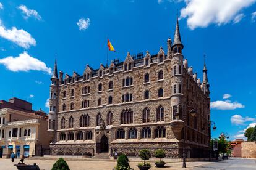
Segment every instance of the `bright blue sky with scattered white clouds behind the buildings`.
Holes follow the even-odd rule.
[[[72,75],[106,63],[107,37],[116,49],[109,60],[166,51],[178,9],[184,57],[199,78],[207,55],[213,137],[242,137],[256,124],[256,0],[0,2],[0,99],[20,97],[48,111],[55,54],[58,70]]]

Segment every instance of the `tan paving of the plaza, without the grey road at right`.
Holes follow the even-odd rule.
[[[14,163],[11,162],[11,159],[5,159],[0,158],[0,169],[1,170],[12,170],[17,169],[15,168],[14,164],[17,164],[19,160],[15,159]],[[51,170],[51,167],[56,162],[55,160],[25,160],[26,164],[33,164],[37,163],[40,169],[45,170]],[[208,162],[189,162],[187,163],[186,169],[194,169],[195,166],[206,166]],[[116,166],[116,162],[114,161],[83,161],[83,160],[77,160],[77,161],[67,161],[67,164],[69,164],[69,168],[71,170],[111,170]],[[134,168],[134,170],[138,170],[137,168],[138,162],[130,162],[130,166]],[[161,169],[182,169],[182,163],[166,163],[166,168],[156,168],[155,164],[151,163],[153,165],[150,170],[161,170]]]

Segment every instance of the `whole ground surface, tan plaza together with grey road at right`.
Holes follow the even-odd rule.
[[[14,164],[17,164],[18,160],[16,159],[14,163],[10,159],[0,158],[0,169],[11,170],[17,169],[14,167]],[[37,163],[40,169],[50,170],[55,160],[25,160],[26,164]],[[115,161],[67,161],[69,168],[71,170],[81,170],[81,169],[93,169],[93,170],[104,170],[112,169],[116,166]],[[134,170],[137,168],[138,162],[130,162],[130,166]],[[153,166],[151,170],[161,170],[161,169],[184,169],[182,168],[182,163],[167,163],[165,168],[156,168],[155,164],[151,163]],[[233,170],[246,170],[246,169],[256,169],[256,159],[242,159],[242,158],[230,158],[229,160],[224,161],[215,161],[215,162],[188,162],[186,169],[233,169]]]

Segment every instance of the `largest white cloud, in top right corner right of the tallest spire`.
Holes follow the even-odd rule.
[[[211,23],[224,25],[235,22],[242,9],[251,6],[256,0],[184,0],[186,7],[181,9],[181,18],[187,18],[191,30],[205,28]],[[237,17],[239,18],[239,17]]]

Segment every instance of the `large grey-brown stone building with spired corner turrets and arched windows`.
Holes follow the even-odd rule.
[[[167,52],[130,55],[109,67],[86,65],[79,75],[59,71],[51,77],[48,131],[52,155],[97,155],[141,148],[164,148],[182,156],[183,118],[187,158],[207,157],[210,141],[210,91],[206,65],[203,81],[188,67],[177,20]],[[196,116],[190,110],[196,110]]]

